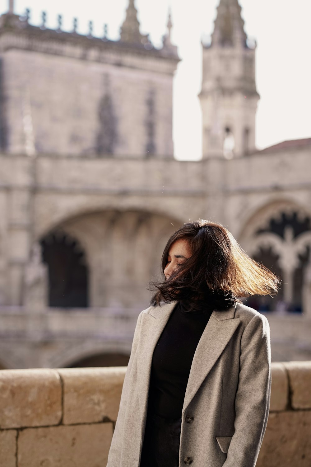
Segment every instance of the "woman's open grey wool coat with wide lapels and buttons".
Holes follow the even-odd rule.
[[[152,354],[175,304],[150,306],[138,316],[107,467],[139,467]],[[267,318],[242,304],[213,311],[187,383],[179,467],[255,466],[270,390]]]

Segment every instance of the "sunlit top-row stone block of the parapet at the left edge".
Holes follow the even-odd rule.
[[[0,427],[57,425],[62,417],[62,387],[52,369],[0,372]]]

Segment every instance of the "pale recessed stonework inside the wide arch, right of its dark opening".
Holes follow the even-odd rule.
[[[107,209],[66,219],[54,231],[76,239],[86,252],[90,306],[145,307],[148,281],[157,276],[176,219],[142,210]]]

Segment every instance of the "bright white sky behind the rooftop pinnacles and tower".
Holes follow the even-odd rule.
[[[173,138],[175,157],[201,156],[201,114],[198,100],[201,84],[201,38],[213,31],[219,0],[136,0],[142,33],[150,33],[155,46],[166,32],[168,6],[172,9],[172,42],[182,61],[174,79]],[[31,22],[40,24],[41,11],[48,14],[48,27],[56,27],[57,14],[63,28],[88,30],[94,35],[117,39],[128,0],[15,0],[14,11],[31,10]],[[256,38],[256,79],[261,95],[257,111],[256,145],[259,149],[287,139],[311,137],[311,0],[240,0],[245,31]],[[0,0],[0,13],[8,0]]]

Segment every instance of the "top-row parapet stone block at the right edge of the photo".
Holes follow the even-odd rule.
[[[311,409],[311,361],[284,363],[290,379],[291,407]]]

